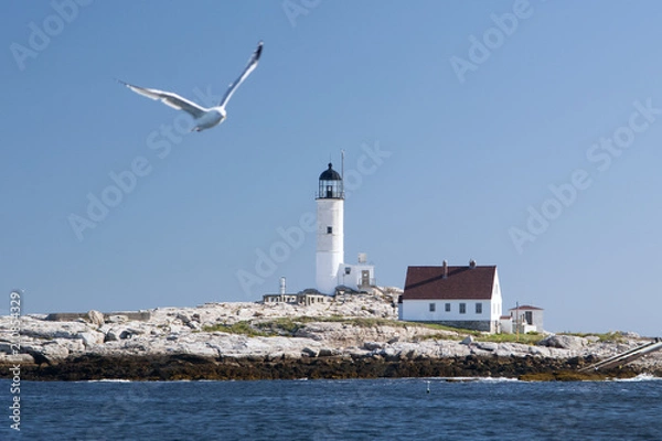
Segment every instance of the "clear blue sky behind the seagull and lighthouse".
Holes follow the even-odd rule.
[[[380,284],[472,258],[551,331],[662,334],[660,2],[57,1],[64,18],[13,1],[0,19],[0,290],[25,313],[312,287],[312,234],[266,277],[257,250],[314,213],[343,149],[345,258],[367,252]],[[202,133],[168,135],[179,112],[114,80],[222,95],[259,40]],[[81,240],[72,215],[135,161]]]

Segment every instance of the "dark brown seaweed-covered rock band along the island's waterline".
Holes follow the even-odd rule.
[[[627,367],[599,375],[569,375],[585,361],[536,357],[445,357],[388,362],[375,357],[318,357],[280,361],[217,359],[177,354],[156,357],[82,355],[46,366],[24,366],[28,380],[260,380],[349,379],[404,377],[503,377],[524,379],[631,378],[639,369]],[[559,375],[565,373],[565,377]],[[660,372],[659,374],[662,374]]]

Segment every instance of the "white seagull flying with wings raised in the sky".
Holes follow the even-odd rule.
[[[257,44],[257,49],[250,56],[250,60],[248,60],[246,68],[244,68],[242,75],[239,75],[239,77],[227,87],[227,92],[225,92],[225,95],[223,96],[221,103],[218,103],[218,106],[210,108],[202,107],[171,92],[138,87],[119,79],[118,82],[134,90],[136,94],[140,94],[151,99],[158,99],[162,101],[166,106],[172,107],[173,109],[183,110],[186,114],[190,114],[193,118],[195,118],[196,121],[195,127],[193,127],[191,131],[202,131],[218,126],[225,120],[225,117],[227,116],[227,112],[225,111],[225,106],[227,106],[227,101],[229,101],[229,98],[232,98],[232,95],[235,93],[237,87],[239,87],[239,85],[244,83],[244,79],[246,79],[248,75],[250,75],[250,73],[257,67],[257,62],[259,61],[259,56],[261,55],[261,49],[263,42],[260,41]]]

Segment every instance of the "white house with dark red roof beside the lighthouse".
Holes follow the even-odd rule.
[[[498,332],[502,313],[495,266],[409,267],[399,319]]]

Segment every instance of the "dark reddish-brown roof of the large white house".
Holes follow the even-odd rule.
[[[409,267],[403,300],[491,300],[496,266]]]

